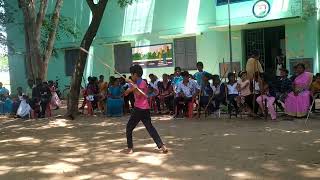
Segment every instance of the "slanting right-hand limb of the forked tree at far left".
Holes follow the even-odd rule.
[[[52,50],[53,50],[54,41],[56,39],[62,4],[63,4],[63,0],[56,1],[54,12],[51,18],[51,22],[50,22],[51,28],[50,28],[49,37],[48,37],[46,48],[44,50],[44,57],[43,57],[43,61],[45,64],[49,62],[49,59],[52,55]]]

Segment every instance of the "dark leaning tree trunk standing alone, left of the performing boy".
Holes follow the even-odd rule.
[[[98,4],[94,4],[93,1],[87,0],[87,3],[92,11],[93,17],[89,28],[82,39],[80,47],[89,50],[101,24],[108,0],[100,0]],[[87,53],[79,50],[75,71],[72,76],[70,95],[68,97],[67,117],[70,119],[73,119],[78,114],[80,86],[87,57]]]

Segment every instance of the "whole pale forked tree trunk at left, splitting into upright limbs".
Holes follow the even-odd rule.
[[[63,0],[56,0],[56,5],[51,18],[51,31],[44,52],[41,52],[40,38],[41,28],[48,7],[48,0],[41,0],[36,13],[36,1],[18,0],[19,8],[22,9],[25,25],[26,61],[28,69],[32,71],[28,78],[42,80],[47,79],[48,64],[52,55],[56,32],[60,19],[60,11]]]

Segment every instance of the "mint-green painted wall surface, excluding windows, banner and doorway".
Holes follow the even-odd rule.
[[[98,59],[100,59],[114,66],[113,42],[130,41],[132,46],[172,43],[173,39],[168,38],[168,35],[198,33],[198,60],[203,61],[205,70],[211,73],[219,73],[219,62],[222,62],[223,59],[226,62],[229,60],[227,29],[222,31],[212,29],[212,27],[227,24],[227,6],[216,7],[215,0],[139,0],[139,2],[142,2],[142,4],[127,8],[118,7],[115,0],[109,2],[102,25],[90,50],[92,56],[88,58],[85,76],[103,74],[108,78],[114,74],[98,62]],[[270,14],[266,18],[258,19],[252,15],[254,2],[256,1],[232,4],[232,24],[299,16],[301,12],[300,0],[281,1],[289,2],[289,4],[288,8],[281,6],[280,9],[278,8],[280,1],[270,0],[272,6]],[[16,1],[11,3],[16,3]],[[58,76],[63,87],[70,81],[70,77],[65,77],[63,49],[79,46],[81,37],[90,23],[91,15],[85,0],[64,1],[62,14],[72,18],[75,27],[80,31],[79,39],[65,37],[56,42],[56,47],[59,48],[59,56],[57,58],[53,57],[49,64],[48,79],[55,79]],[[10,24],[10,30],[8,31],[8,38],[13,42],[16,50],[9,57],[13,88],[26,85],[25,73],[22,73],[24,72],[24,36],[20,12],[18,12],[17,17],[17,22]],[[298,53],[301,49],[299,46],[302,44],[303,56],[317,57],[317,47],[319,48],[317,44],[319,42],[311,42],[319,38],[319,32],[314,28],[315,22],[315,19],[310,19],[308,22],[285,25],[288,39],[287,53],[291,51]],[[246,29],[246,26],[232,32],[233,60],[241,63],[245,61],[243,29]],[[300,43],[300,40],[297,39],[297,34],[301,33],[303,34],[303,43]],[[166,38],[163,38],[163,36],[166,36]],[[146,69],[144,73],[145,76],[149,73],[160,76],[164,72],[172,73],[173,68]]]

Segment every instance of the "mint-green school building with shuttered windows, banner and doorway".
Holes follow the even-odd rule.
[[[145,69],[145,77],[150,73],[158,77],[171,74],[175,66],[193,72],[196,62],[202,61],[206,71],[223,75],[222,71],[230,69],[223,65],[230,59],[227,2],[137,0],[120,8],[116,0],[109,0],[90,49],[84,78],[114,75],[99,61],[121,73],[127,73],[132,64],[140,64]],[[279,54],[285,57],[289,69],[293,63],[303,61],[311,71],[319,71],[318,0],[230,2],[234,70],[245,67],[251,52],[259,50],[267,72],[274,73],[275,58]],[[75,49],[90,23],[91,14],[85,0],[68,0],[64,1],[62,15],[72,18],[75,28],[81,32],[78,39],[57,41],[58,56],[50,60],[48,79],[59,78],[63,87],[70,82]],[[15,49],[15,53],[9,54],[12,88],[26,86],[22,30],[21,23],[7,28],[8,39]]]

